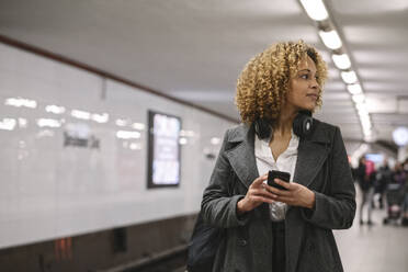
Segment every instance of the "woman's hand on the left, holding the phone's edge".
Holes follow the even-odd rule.
[[[268,180],[268,173],[256,179],[249,186],[246,196],[237,203],[237,213],[243,214],[252,211],[262,203],[273,203],[274,194],[268,192],[264,188],[264,181]]]

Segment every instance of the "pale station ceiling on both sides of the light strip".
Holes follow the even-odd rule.
[[[408,126],[408,1],[326,0],[366,94],[376,139]],[[237,77],[277,41],[329,65],[316,116],[363,134],[353,102],[297,0],[1,0],[0,34],[238,120]]]

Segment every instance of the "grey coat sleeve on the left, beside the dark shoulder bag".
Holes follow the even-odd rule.
[[[228,143],[228,131],[224,135],[208,186],[204,190],[201,213],[211,226],[228,228],[246,225],[249,216],[237,216],[237,203],[245,195],[231,195],[231,167],[225,155]]]

